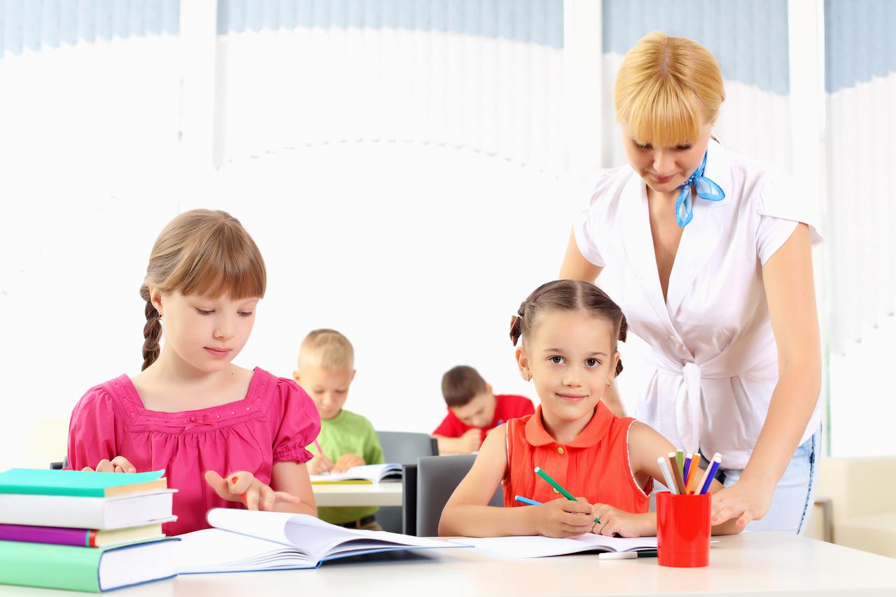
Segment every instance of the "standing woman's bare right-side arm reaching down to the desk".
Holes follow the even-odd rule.
[[[806,224],[797,224],[765,262],[762,279],[778,344],[778,385],[740,480],[712,500],[718,522],[737,517],[741,526],[768,512],[821,392],[822,350]]]

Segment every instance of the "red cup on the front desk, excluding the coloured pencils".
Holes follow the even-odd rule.
[[[710,564],[712,495],[657,494],[659,566],[695,568]]]

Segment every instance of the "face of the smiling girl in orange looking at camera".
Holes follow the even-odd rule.
[[[590,417],[616,374],[615,326],[583,311],[538,316],[517,362],[532,376],[541,410],[557,422]]]

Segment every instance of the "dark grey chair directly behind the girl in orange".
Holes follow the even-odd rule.
[[[470,472],[476,456],[453,454],[450,456],[425,456],[417,461],[417,512],[415,515],[418,537],[435,537],[439,534],[439,518],[454,489]],[[407,481],[406,481],[407,482]],[[407,508],[409,505],[405,503]],[[498,486],[488,506],[504,506],[504,491]]]

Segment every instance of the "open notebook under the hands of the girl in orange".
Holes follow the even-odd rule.
[[[640,551],[657,549],[656,537],[604,537],[586,533],[579,537],[557,539],[554,537],[488,537],[472,539],[464,537],[458,541],[471,545],[491,556],[506,559],[545,558],[563,556],[580,551]]]

